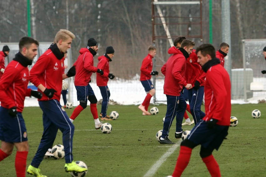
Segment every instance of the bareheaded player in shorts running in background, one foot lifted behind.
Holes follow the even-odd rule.
[[[140,82],[147,93],[143,103],[139,105],[142,115],[151,115],[150,112],[148,112],[148,108],[150,105],[150,99],[155,94],[155,89],[150,78],[152,75],[158,75],[158,71],[152,71],[152,58],[156,55],[156,48],[154,46],[149,46],[148,52],[148,55],[143,59],[140,67]]]

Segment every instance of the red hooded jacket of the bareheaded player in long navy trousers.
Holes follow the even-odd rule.
[[[185,80],[186,59],[183,53],[175,46],[168,50],[170,56],[167,62],[161,68],[165,75],[164,94],[171,96],[180,96],[180,92],[187,85]]]

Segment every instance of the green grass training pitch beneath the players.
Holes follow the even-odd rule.
[[[224,140],[219,151],[213,155],[221,170],[222,176],[266,176],[266,111],[265,104],[234,104],[232,116],[238,118],[239,124],[229,128],[227,140]],[[150,106],[151,107],[151,106]],[[162,145],[155,134],[163,127],[166,105],[156,106],[159,114],[142,116],[135,105],[110,105],[108,112],[117,111],[119,118],[107,121],[113,126],[110,134],[103,134],[94,129],[90,108],[86,108],[74,121],[73,140],[74,160],[82,160],[88,166],[86,176],[110,177],[164,177],[171,175],[179,153],[180,139],[174,138],[175,121],[171,127],[169,139],[175,145]],[[204,110],[204,106],[202,106]],[[251,117],[251,112],[259,109],[259,119]],[[100,106],[98,106],[100,110]],[[66,109],[70,116],[73,109]],[[189,114],[190,118],[192,116]],[[27,166],[30,164],[42,136],[42,111],[39,107],[27,107],[23,117],[28,131],[30,151]],[[55,117],[56,118],[56,117]],[[192,126],[183,126],[190,130]],[[58,132],[55,144],[62,144],[62,133]],[[13,154],[0,162],[1,177],[15,176]],[[48,177],[69,177],[64,172],[65,160],[44,159],[40,165],[43,175]],[[30,175],[26,175],[30,176]],[[191,155],[190,163],[183,176],[210,176],[199,157],[199,146]]]

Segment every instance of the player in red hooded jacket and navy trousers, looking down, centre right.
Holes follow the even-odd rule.
[[[161,144],[175,144],[170,141],[168,134],[174,118],[176,117],[175,138],[181,138],[182,120],[186,111],[187,103],[183,94],[180,94],[183,88],[191,89],[192,85],[187,84],[185,80],[186,59],[192,52],[195,43],[185,39],[181,43],[180,48],[175,46],[168,50],[169,54],[173,54],[161,68],[162,74],[165,75],[164,94],[167,98],[167,110],[163,126]]]

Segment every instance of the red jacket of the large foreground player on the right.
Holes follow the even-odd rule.
[[[229,126],[231,116],[231,83],[229,74],[221,65],[210,67],[205,80],[205,117],[217,119],[218,125]]]

